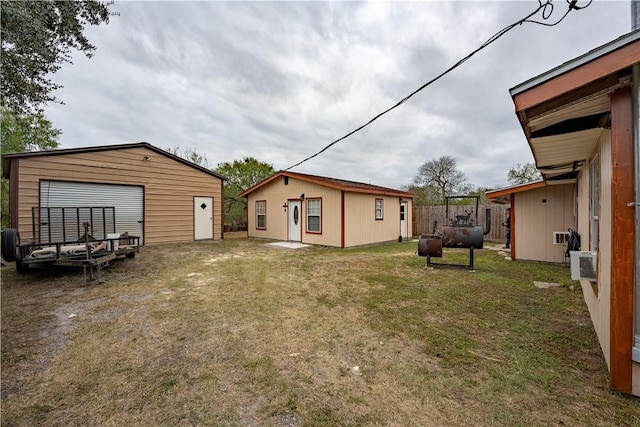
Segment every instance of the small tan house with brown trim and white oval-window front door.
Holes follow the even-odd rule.
[[[406,239],[413,193],[278,172],[245,190],[249,237],[351,247]]]

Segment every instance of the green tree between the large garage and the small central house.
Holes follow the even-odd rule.
[[[240,193],[273,175],[275,170],[268,163],[245,157],[233,163],[219,163],[214,172],[229,180],[224,187],[224,216],[229,221],[235,221],[247,217],[247,201],[240,197]]]

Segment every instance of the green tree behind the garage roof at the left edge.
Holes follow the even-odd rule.
[[[23,151],[53,150],[61,132],[51,126],[41,113],[17,115],[0,109],[0,151],[3,154]],[[2,172],[0,166],[0,173]],[[2,226],[9,225],[9,180],[2,176]]]

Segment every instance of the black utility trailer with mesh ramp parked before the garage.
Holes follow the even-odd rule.
[[[116,232],[112,206],[32,208],[31,226],[34,240],[25,243],[18,230],[2,230],[2,257],[15,261],[18,273],[36,265],[83,267],[91,282],[109,261],[140,252],[140,236]]]

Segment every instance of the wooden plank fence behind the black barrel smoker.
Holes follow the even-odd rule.
[[[485,236],[486,240],[504,240],[504,226],[502,223],[506,218],[506,210],[509,205],[480,205],[478,207],[478,223],[476,225],[485,228],[485,212],[491,210],[491,230]],[[474,205],[449,205],[449,221],[456,215],[466,215],[471,211],[471,218],[476,218],[476,206]],[[433,234],[434,221],[436,231],[442,231],[446,219],[445,206],[415,206],[413,208],[413,235]]]

